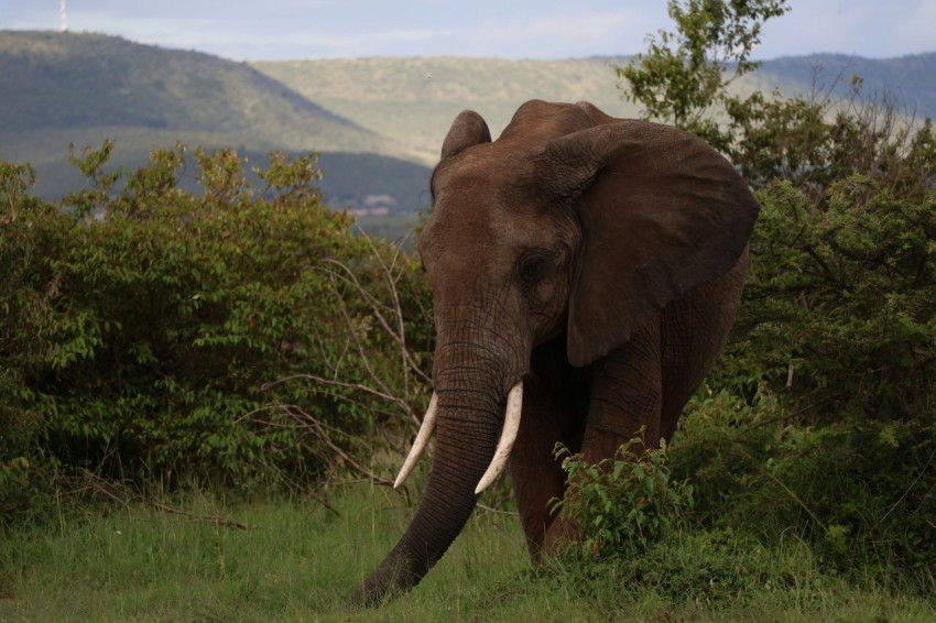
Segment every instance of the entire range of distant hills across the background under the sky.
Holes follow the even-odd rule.
[[[69,143],[113,139],[113,165],[142,163],[153,145],[317,151],[323,190],[340,206],[410,214],[428,203],[429,166],[455,116],[481,112],[494,135],[527,99],[588,100],[636,117],[621,99],[621,58],[358,58],[235,63],[100,34],[0,31],[0,157],[31,162],[37,192],[62,196],[80,175]],[[764,63],[737,88],[791,95],[886,89],[917,117],[936,116],[936,53],[872,61],[840,55]],[[841,77],[842,84],[836,84]]]

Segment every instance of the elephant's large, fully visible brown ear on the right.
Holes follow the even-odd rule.
[[[585,365],[627,342],[670,302],[728,272],[759,206],[697,136],[617,121],[553,140],[552,190],[576,200],[583,248],[569,298],[568,357]]]

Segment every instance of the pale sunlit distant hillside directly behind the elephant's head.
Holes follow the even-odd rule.
[[[633,117],[608,59],[334,58],[254,63],[324,108],[392,136],[435,164],[455,116],[481,112],[497,136],[529,99],[588,100]]]

